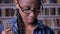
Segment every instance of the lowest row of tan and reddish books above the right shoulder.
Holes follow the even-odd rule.
[[[60,19],[44,19],[42,23],[51,28],[60,27]]]

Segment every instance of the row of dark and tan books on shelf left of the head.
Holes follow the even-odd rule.
[[[14,9],[0,9],[0,17],[1,16],[13,16],[15,13]]]

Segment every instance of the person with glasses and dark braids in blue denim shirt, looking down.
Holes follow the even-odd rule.
[[[9,21],[12,30],[3,30],[2,34],[54,34],[48,26],[45,26],[37,19],[42,6],[41,0],[14,1],[18,9],[17,19]]]

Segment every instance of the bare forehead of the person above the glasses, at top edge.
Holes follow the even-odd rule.
[[[37,0],[18,0],[21,6],[36,6],[39,5]]]

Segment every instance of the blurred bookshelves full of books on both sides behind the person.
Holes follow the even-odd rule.
[[[38,19],[60,34],[60,0],[42,0],[43,11]],[[0,0],[0,24],[16,18],[16,7],[13,0]]]

